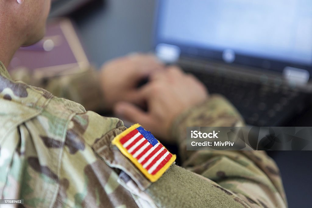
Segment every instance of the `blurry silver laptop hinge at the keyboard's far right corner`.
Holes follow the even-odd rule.
[[[298,85],[306,85],[310,78],[310,73],[307,70],[287,66],[283,70],[283,77],[289,83]]]

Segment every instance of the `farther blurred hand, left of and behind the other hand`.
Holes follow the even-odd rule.
[[[164,65],[155,56],[135,54],[118,58],[102,66],[100,85],[106,108],[119,101],[141,104],[138,83],[151,73],[163,70]]]

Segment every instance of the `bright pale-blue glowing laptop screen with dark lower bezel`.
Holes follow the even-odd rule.
[[[312,66],[311,0],[160,0],[156,44],[267,69]]]

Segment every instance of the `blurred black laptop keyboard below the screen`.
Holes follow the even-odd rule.
[[[308,94],[288,86],[190,71],[207,86],[210,94],[222,94],[231,101],[250,125],[284,126],[307,105]]]

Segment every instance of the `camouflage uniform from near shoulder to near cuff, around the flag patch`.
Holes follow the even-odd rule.
[[[1,64],[0,197],[21,207],[286,207],[265,152],[186,151],[186,126],[241,124],[220,96],[184,112],[172,127],[183,166],[151,183],[111,144],[122,121],[14,82]]]

